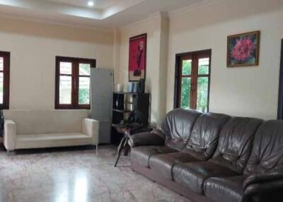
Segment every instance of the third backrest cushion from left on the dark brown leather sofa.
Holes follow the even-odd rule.
[[[253,147],[253,139],[261,119],[233,117],[223,126],[213,158],[209,161],[242,174]]]

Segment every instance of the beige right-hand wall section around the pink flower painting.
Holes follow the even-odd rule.
[[[282,6],[282,0],[228,0],[172,13],[167,111],[173,108],[175,54],[212,49],[210,111],[275,119]],[[227,69],[226,37],[253,30],[261,31],[260,66]]]

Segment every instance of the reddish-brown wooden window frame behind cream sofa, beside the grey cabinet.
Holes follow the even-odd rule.
[[[60,76],[64,74],[60,73],[60,62],[71,62],[72,69],[71,74],[66,76],[71,76],[71,104],[60,104],[59,103],[59,81]],[[56,67],[55,67],[55,109],[91,109],[91,104],[89,105],[79,105],[79,78],[80,77],[90,77],[90,76],[80,76],[79,75],[79,64],[91,64],[91,68],[96,68],[96,59],[85,59],[76,57],[56,57]],[[91,98],[91,95],[90,95]],[[91,102],[91,99],[90,99]]]

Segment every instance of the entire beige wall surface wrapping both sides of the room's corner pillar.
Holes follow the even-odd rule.
[[[277,114],[283,0],[226,0],[183,8],[116,29],[86,30],[0,18],[0,50],[11,52],[11,109],[54,109],[54,57],[97,59],[128,83],[129,37],[147,33],[151,121],[173,109],[175,54],[212,49],[210,110],[274,119]],[[261,31],[260,66],[226,68],[226,37]]]

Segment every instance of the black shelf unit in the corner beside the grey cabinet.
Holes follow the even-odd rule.
[[[144,120],[145,126],[149,124],[149,108],[150,94],[149,93],[113,93],[113,110],[112,124],[120,124],[121,121],[127,120],[129,113],[137,109]],[[117,133],[112,129],[111,142],[113,144],[120,143],[122,134]]]

